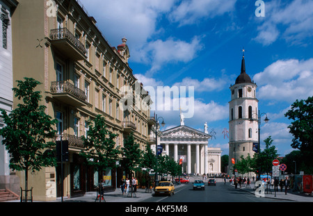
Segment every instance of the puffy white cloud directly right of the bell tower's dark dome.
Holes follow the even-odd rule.
[[[259,85],[258,99],[287,101],[307,99],[313,95],[313,58],[309,60],[278,60],[255,74]]]

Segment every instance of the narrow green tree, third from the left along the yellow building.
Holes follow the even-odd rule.
[[[131,173],[140,170],[143,151],[140,146],[134,140],[134,134],[130,133],[127,138],[124,139],[124,147],[122,147],[123,164],[126,169],[126,173],[131,178]]]

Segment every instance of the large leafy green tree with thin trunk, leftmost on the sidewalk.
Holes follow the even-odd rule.
[[[6,126],[0,130],[0,135],[10,153],[9,167],[25,172],[27,201],[28,172],[56,165],[54,152],[44,150],[55,145],[54,142],[47,142],[47,139],[56,135],[53,126],[57,120],[45,113],[46,106],[39,105],[42,95],[35,88],[41,83],[34,78],[25,77],[24,80],[17,81],[17,88],[13,88],[15,97],[22,100],[22,103],[17,104],[17,108],[10,114],[1,110]]]

